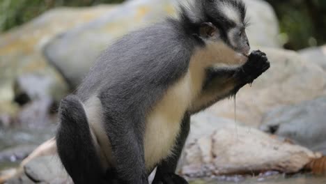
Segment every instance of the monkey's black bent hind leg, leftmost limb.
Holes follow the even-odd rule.
[[[59,157],[75,184],[104,183],[104,170],[84,108],[78,98],[70,95],[61,101],[61,123],[56,134]]]

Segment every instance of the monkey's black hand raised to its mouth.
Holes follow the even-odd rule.
[[[256,50],[251,52],[247,63],[244,63],[242,66],[238,77],[242,80],[243,85],[251,84],[254,82],[254,79],[262,75],[268,68],[270,68],[270,62],[266,54]]]

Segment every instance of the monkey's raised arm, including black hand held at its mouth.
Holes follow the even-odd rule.
[[[254,51],[247,63],[238,68],[209,68],[203,91],[192,105],[192,114],[210,107],[218,100],[235,95],[246,84],[250,84],[270,68],[266,54]]]

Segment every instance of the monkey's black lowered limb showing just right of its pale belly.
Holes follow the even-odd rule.
[[[185,117],[183,118],[183,122],[181,123],[181,129],[176,140],[176,146],[173,149],[173,155],[162,160],[162,162],[157,165],[153,184],[187,184],[187,181],[185,181],[184,178],[176,175],[175,171],[181,152],[183,151],[183,146],[185,146],[185,141],[188,137],[189,129],[190,116],[189,113],[186,113]]]

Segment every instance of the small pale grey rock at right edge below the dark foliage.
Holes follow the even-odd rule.
[[[326,45],[302,49],[299,53],[307,62],[316,63],[326,70]]]

